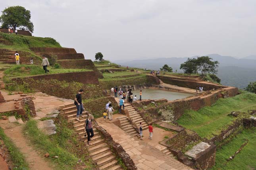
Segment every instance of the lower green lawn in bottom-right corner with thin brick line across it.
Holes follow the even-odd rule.
[[[242,151],[233,160],[226,161],[248,140]],[[211,170],[255,170],[256,128],[245,129],[216,152],[216,165]]]

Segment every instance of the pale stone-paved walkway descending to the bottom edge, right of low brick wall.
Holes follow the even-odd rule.
[[[121,128],[112,124],[99,124],[111,134],[115,142],[119,143],[126,153],[131,156],[138,170],[192,170],[176,159],[165,155],[160,150],[148,145],[144,141],[134,139]]]

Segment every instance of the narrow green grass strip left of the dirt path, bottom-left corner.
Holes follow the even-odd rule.
[[[19,151],[15,144],[4,134],[4,130],[0,127],[0,139],[4,141],[11,157],[12,162],[17,166],[16,170],[28,170],[29,164],[25,161],[24,155]]]

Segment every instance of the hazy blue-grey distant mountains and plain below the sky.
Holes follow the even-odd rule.
[[[235,86],[244,88],[249,82],[256,81],[256,55],[250,55],[244,58],[235,58],[231,56],[223,56],[219,54],[208,54],[205,56],[212,57],[219,61],[218,76],[221,78],[221,84],[227,86]],[[198,56],[193,56],[198,57]],[[190,57],[190,58],[193,58]],[[132,61],[114,61],[123,66],[148,68],[158,70],[163,65],[167,64],[173,68],[173,71],[181,73],[179,69],[181,63],[184,63],[187,57],[172,57],[172,58],[156,58],[156,59],[136,59]]]

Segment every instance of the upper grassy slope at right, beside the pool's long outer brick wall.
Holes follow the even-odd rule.
[[[235,97],[219,99],[211,107],[203,107],[198,111],[187,110],[177,122],[194,130],[200,137],[210,139],[235,119],[227,116],[231,111],[249,109],[256,109],[256,94],[244,92]]]

